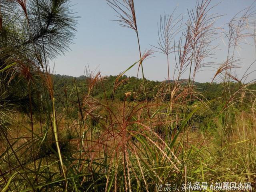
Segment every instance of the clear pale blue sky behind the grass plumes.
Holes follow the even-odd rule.
[[[237,12],[250,6],[252,0],[212,0],[211,5],[220,3],[211,13],[222,16],[216,26],[223,27]],[[70,52],[59,56],[50,62],[55,62],[54,73],[70,76],[84,75],[87,64],[91,71],[100,71],[102,75],[116,75],[126,70],[139,59],[138,45],[135,32],[118,26],[111,19],[116,19],[115,12],[105,0],[71,0],[72,8],[77,12],[78,28],[74,44]],[[160,15],[170,14],[177,7],[176,15],[182,13],[187,17],[187,9],[194,8],[196,0],[134,0],[138,32],[142,50],[152,48],[158,40],[157,23]],[[221,38],[215,44],[220,44],[216,50],[216,59],[212,62],[222,62],[226,58],[227,50]],[[246,46],[239,51],[243,58],[243,68],[237,71],[242,74],[255,58],[254,46]],[[236,54],[237,56],[238,53]],[[144,62],[145,77],[150,80],[164,80],[167,78],[166,59],[163,54],[155,53],[155,57]],[[208,60],[209,61],[209,60]],[[173,74],[174,58],[170,58],[170,74]],[[136,76],[138,67],[128,71],[127,76]],[[256,66],[254,65],[254,69]],[[214,72],[202,71],[196,76],[198,82],[209,82]],[[183,76],[182,78],[188,78]]]

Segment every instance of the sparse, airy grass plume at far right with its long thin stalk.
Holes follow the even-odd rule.
[[[246,43],[246,38],[253,37],[254,31],[254,20],[255,20],[255,10],[253,4],[249,6],[248,8],[238,12],[228,23],[228,32],[224,33],[224,37],[228,40],[228,52],[227,52],[227,60],[231,60],[230,65],[232,66],[235,64],[235,53],[238,52],[238,48],[242,44]],[[243,42],[244,41],[244,42]],[[238,53],[239,54],[239,53]],[[229,109],[229,107],[226,107],[227,105],[230,105],[232,110],[234,110],[234,105],[231,100],[232,97],[232,91],[230,90],[230,78],[234,77],[233,74],[235,71],[232,70],[233,68],[227,68],[225,70],[225,75],[223,79],[223,100],[222,103],[224,105],[225,110],[223,111],[223,114],[225,116],[224,120],[222,121],[222,132],[223,137],[221,140],[221,146],[226,143],[226,130],[233,132],[232,125],[229,124],[230,119],[232,118],[232,111]]]

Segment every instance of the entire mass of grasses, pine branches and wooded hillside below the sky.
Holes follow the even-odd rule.
[[[143,71],[154,52],[140,52],[133,0],[107,2],[135,32],[138,61],[118,76],[74,78],[53,75],[48,65],[74,37],[69,1],[1,0],[1,192],[151,192],[189,182],[208,182],[208,191],[218,191],[211,183],[249,182],[255,190],[256,84],[247,80],[253,63],[240,78],[235,73],[236,50],[255,40],[254,7],[228,23],[227,59],[209,83],[195,80],[212,65],[204,59],[218,38],[210,0],[197,2],[185,22],[161,17],[153,47],[166,55],[168,80],[155,82]],[[141,79],[125,75],[137,66]]]

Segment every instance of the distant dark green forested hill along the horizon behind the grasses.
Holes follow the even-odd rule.
[[[98,99],[105,99],[105,94],[108,99],[113,98],[113,88],[114,88],[114,81],[116,80],[117,76],[104,76],[102,77],[102,80],[98,80],[98,82],[95,83],[95,87],[93,90],[91,90],[91,94],[98,98]],[[62,101],[65,100],[74,100],[74,102],[77,100],[76,97],[76,88],[75,84],[78,90],[78,94],[80,98],[82,99],[86,93],[88,92],[88,85],[92,82],[89,81],[89,78],[86,76],[80,76],[80,77],[72,77],[72,76],[66,76],[66,75],[54,75],[54,90],[55,94],[57,95],[58,100],[61,99]],[[187,83],[186,80],[184,81],[184,84]],[[122,76],[119,79],[120,85],[115,90],[114,99],[115,100],[121,100],[123,101],[125,98],[125,93],[131,92],[133,93],[134,90],[136,90],[136,87],[140,87],[142,84],[142,79],[137,79],[136,77],[127,77],[126,75]],[[164,82],[159,81],[152,81],[152,80],[146,80],[146,89],[148,93],[148,99],[154,98],[156,96],[159,87],[163,85]],[[167,81],[166,81],[167,84]],[[173,82],[170,83],[171,85]],[[104,85],[104,86],[102,86]],[[240,86],[238,83],[231,82],[230,87],[234,90],[237,90],[237,88]],[[209,88],[209,89],[208,89]],[[250,89],[256,90],[256,84],[250,85]],[[222,96],[223,92],[223,85],[212,83],[210,85],[209,82],[205,83],[199,83],[194,82],[194,90],[196,92],[200,92],[202,96],[204,96],[208,100],[212,100],[214,98],[218,98]],[[139,100],[144,100],[144,94],[143,90],[141,88],[142,94],[140,94]],[[132,98],[130,98],[132,99]],[[58,103],[60,105],[60,103]]]

